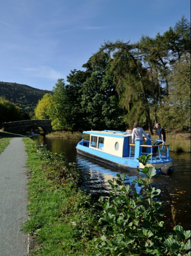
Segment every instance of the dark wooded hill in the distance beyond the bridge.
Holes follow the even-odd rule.
[[[15,103],[26,113],[34,112],[38,100],[51,91],[40,90],[26,84],[0,82],[0,96]]]

